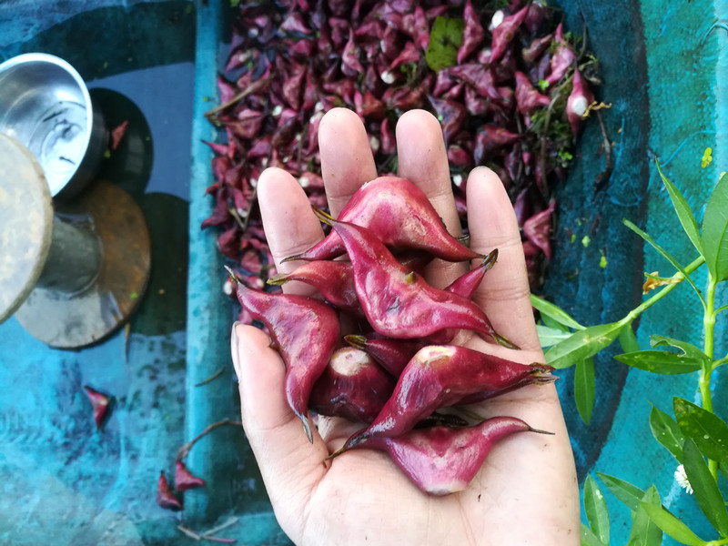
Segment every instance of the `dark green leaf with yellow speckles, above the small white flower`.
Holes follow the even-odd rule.
[[[675,420],[708,459],[728,463],[728,424],[708,410],[685,399],[672,399]]]

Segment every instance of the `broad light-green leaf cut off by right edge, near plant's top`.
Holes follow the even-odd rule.
[[[723,173],[705,206],[703,256],[713,278],[728,278],[728,173]]]

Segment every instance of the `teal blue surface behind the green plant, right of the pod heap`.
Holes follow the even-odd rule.
[[[591,48],[602,64],[600,98],[612,104],[604,119],[614,142],[615,168],[605,195],[592,190],[603,168],[596,156],[601,135],[591,123],[581,140],[581,161],[559,192],[558,244],[546,292],[585,324],[621,319],[642,301],[643,271],[673,269],[652,248],[622,226],[622,218],[646,229],[683,263],[697,255],[672,212],[654,158],[688,198],[702,209],[717,175],[728,168],[725,152],[726,35],[714,21],[728,15],[726,2],[561,2],[567,24],[581,28],[582,11]],[[713,147],[713,163],[701,167],[703,150]],[[571,233],[576,235],[571,243]],[[587,248],[580,244],[589,235]],[[600,268],[601,251],[608,264]],[[704,286],[704,274],[698,274]],[[677,288],[639,322],[638,339],[662,334],[702,346],[702,308],[688,286]],[[716,329],[716,354],[725,353],[725,329]],[[705,539],[715,538],[697,508],[673,480],[677,462],[653,440],[648,418],[651,403],[672,413],[672,396],[697,400],[696,376],[654,376],[611,359],[614,348],[596,359],[597,399],[589,427],[578,417],[571,397],[572,373],[563,373],[560,389],[577,456],[580,478],[602,471],[632,481],[642,489],[655,484],[662,501],[685,517]],[[720,374],[715,374],[719,376]],[[725,381],[714,379],[715,409],[725,414]],[[629,536],[629,511],[607,494],[612,515],[612,543]],[[667,539],[665,543],[672,543]]]

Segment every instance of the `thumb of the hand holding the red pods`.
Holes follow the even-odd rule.
[[[328,469],[329,450],[313,429],[313,445],[284,391],[285,366],[260,329],[233,326],[243,428],[258,461],[273,511],[289,537],[300,536],[306,504]]]

